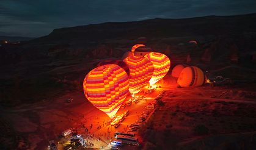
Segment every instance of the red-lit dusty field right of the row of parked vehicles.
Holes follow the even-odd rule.
[[[167,90],[166,95],[162,98],[164,106],[158,107],[152,120],[140,132],[145,140],[145,148],[190,149],[191,146],[195,149],[227,148],[238,140],[235,137],[239,137],[229,134],[252,132],[244,135],[247,137],[244,138],[246,140],[255,135],[254,91],[244,91],[243,88],[235,87],[166,88],[165,90]],[[217,135],[223,140],[213,140]],[[200,139],[200,142],[197,139]],[[235,149],[252,146],[255,148],[251,141],[246,140],[242,139],[242,146],[235,145]]]

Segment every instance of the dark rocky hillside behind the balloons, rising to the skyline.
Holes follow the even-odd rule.
[[[81,90],[82,79],[98,59],[122,57],[142,36],[148,38],[147,46],[170,57],[172,67],[185,63],[190,55],[191,65],[211,70],[214,76],[225,73],[234,79],[254,80],[255,20],[253,13],[54,29],[45,37],[0,47],[0,82],[4,83],[0,96],[5,101],[34,101],[58,95],[56,89]],[[199,44],[190,45],[189,40]]]

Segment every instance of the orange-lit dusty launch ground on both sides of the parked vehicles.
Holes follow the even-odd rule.
[[[1,109],[1,116],[5,116],[16,132],[27,139],[21,140],[20,143],[31,143],[31,147],[35,149],[45,149],[49,140],[62,142],[64,139],[59,136],[69,127],[75,127],[81,134],[85,134],[84,127],[87,127],[95,139],[100,137],[100,141],[92,140],[94,148],[100,148],[107,146],[111,138],[114,139],[115,130],[126,130],[127,125],[134,123],[144,107],[164,90],[164,105],[156,105],[156,110],[148,118],[145,127],[136,133],[142,145],[148,145],[150,142],[158,143],[158,146],[191,146],[191,143],[198,143],[198,140],[203,140],[204,137],[216,138],[214,135],[221,133],[224,138],[225,134],[255,130],[256,101],[247,96],[255,93],[241,87],[233,87],[231,90],[229,87],[170,86],[157,88],[150,95],[138,93],[146,96],[147,100],[126,105],[124,109],[120,108],[117,115],[128,109],[130,115],[117,128],[104,124],[109,120],[109,116],[87,101],[82,92],[68,93],[53,101]],[[73,102],[66,102],[68,98],[73,98]],[[200,129],[201,125],[205,130]],[[100,129],[98,126],[101,126]],[[252,135],[253,133],[244,136]],[[170,142],[164,143],[167,137],[170,137]],[[234,137],[234,141],[237,140],[240,139]],[[220,142],[217,145],[222,144]],[[60,147],[62,145],[59,144]]]

